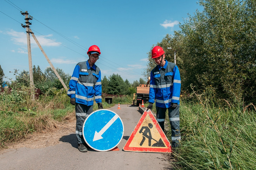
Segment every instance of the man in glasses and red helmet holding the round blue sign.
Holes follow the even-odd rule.
[[[87,54],[89,59],[79,62],[75,66],[67,92],[67,95],[70,97],[70,103],[75,105],[76,138],[78,149],[81,152],[87,152],[86,143],[82,135],[82,126],[85,119],[93,112],[94,98],[98,108],[103,109],[101,71],[95,65],[101,52],[97,45],[92,45],[89,47]]]

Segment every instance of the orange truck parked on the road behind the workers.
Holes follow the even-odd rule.
[[[146,84],[140,84],[137,87],[136,95],[137,95],[137,101],[136,106],[139,106],[143,103],[148,102],[149,100],[149,86],[150,86],[150,77],[148,77],[148,81]]]

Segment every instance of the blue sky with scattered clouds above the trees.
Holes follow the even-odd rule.
[[[143,78],[150,48],[179,30],[188,14],[203,7],[198,0],[0,0],[0,65],[15,80],[14,69],[29,70],[25,16],[55,68],[72,75],[75,65],[88,59],[91,45],[99,46],[96,65],[102,77],[113,73],[130,83]],[[31,36],[32,64],[49,66]],[[9,81],[8,79],[4,79]]]

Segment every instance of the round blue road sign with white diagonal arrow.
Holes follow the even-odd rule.
[[[97,151],[114,149],[123,138],[123,122],[113,111],[100,109],[92,112],[83,124],[83,139]]]

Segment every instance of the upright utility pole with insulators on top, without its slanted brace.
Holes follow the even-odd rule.
[[[29,80],[30,80],[30,87],[31,87],[31,97],[32,101],[35,100],[35,95],[34,95],[34,78],[33,78],[33,69],[32,69],[32,57],[31,57],[31,44],[30,44],[30,35],[29,35],[29,25],[31,23],[29,20],[32,20],[32,18],[28,17],[28,12],[26,11],[25,13],[22,13],[22,15],[25,15],[25,20],[26,20],[26,25],[22,24],[23,28],[26,28],[27,32],[27,44],[28,44],[28,66],[29,66]]]

